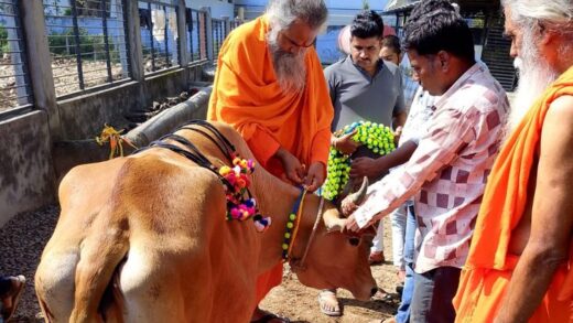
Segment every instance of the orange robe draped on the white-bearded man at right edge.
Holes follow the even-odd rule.
[[[551,103],[563,95],[573,95],[573,67],[533,104],[494,164],[454,299],[456,322],[493,322],[497,315],[519,260],[518,256],[508,254],[508,245],[526,208],[543,121]],[[567,283],[563,283],[567,274],[573,276],[567,266],[558,269],[529,322],[570,322],[573,277],[567,277]]]

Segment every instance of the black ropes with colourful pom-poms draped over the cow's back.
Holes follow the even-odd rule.
[[[199,128],[194,128],[190,126],[198,126],[202,127],[208,132],[204,131]],[[170,133],[161,137],[159,140],[151,142],[148,147],[137,150],[134,153],[140,152],[142,150],[158,147],[169,149],[173,152],[176,152],[188,160],[195,162],[199,166],[203,166],[219,177],[225,187],[225,195],[227,201],[227,220],[238,219],[246,220],[248,218],[252,218],[255,223],[255,227],[257,232],[264,232],[271,224],[270,217],[263,217],[257,207],[257,203],[252,197],[248,186],[250,184],[250,174],[255,171],[255,162],[251,160],[245,160],[239,157],[237,153],[235,146],[230,143],[230,141],[220,133],[217,128],[213,125],[208,123],[204,120],[192,120],[188,125],[180,127],[175,131],[179,130],[191,130],[203,134],[205,138],[209,139],[215,146],[223,152],[225,158],[229,161],[231,166],[224,165],[221,168],[215,166],[198,149],[195,144],[193,144],[187,139],[182,136]],[[165,140],[173,140],[179,142],[186,149],[183,149],[179,146],[171,144],[165,142]]]

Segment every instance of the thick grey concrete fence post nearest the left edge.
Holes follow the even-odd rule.
[[[52,140],[55,141],[61,138],[62,129],[52,73],[52,58],[45,36],[44,4],[42,0],[29,0],[20,1],[20,6],[34,105],[37,109],[46,111],[50,133]]]

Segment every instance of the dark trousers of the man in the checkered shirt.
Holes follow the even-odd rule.
[[[455,321],[452,300],[457,291],[460,273],[455,267],[439,267],[414,272],[414,294],[410,308],[414,323],[450,323]]]

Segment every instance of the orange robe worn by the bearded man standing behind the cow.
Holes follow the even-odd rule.
[[[282,164],[273,157],[280,147],[306,166],[313,162],[326,165],[334,109],[314,49],[305,54],[304,90],[281,89],[266,41],[268,31],[263,15],[229,34],[220,47],[207,119],[231,125],[257,161],[282,177]],[[282,263],[259,277],[257,302],[280,284],[281,278]]]

